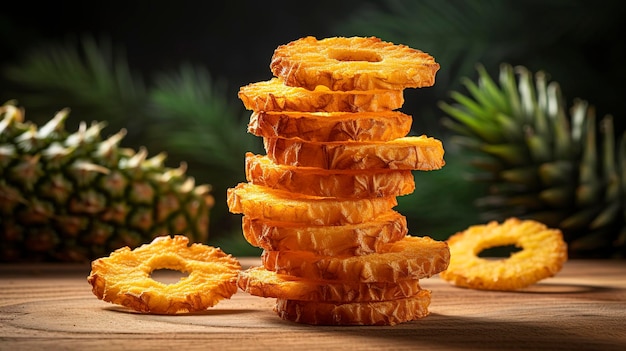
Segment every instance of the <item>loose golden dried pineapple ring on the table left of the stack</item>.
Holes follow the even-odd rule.
[[[99,299],[143,313],[203,311],[237,292],[239,261],[219,248],[161,236],[131,250],[123,247],[92,262],[87,281]],[[150,277],[158,269],[188,273],[174,284]]]

